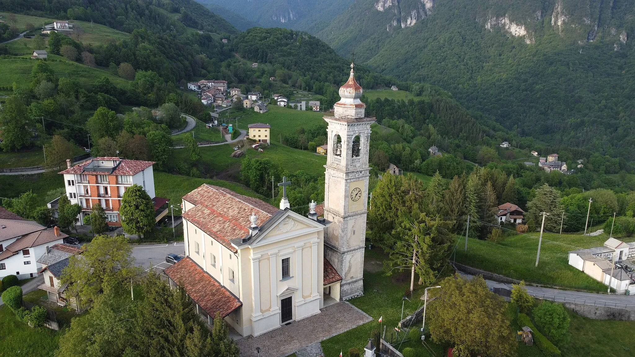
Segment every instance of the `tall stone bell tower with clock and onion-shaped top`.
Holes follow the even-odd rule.
[[[340,88],[335,116],[324,117],[328,123],[324,218],[333,222],[328,227],[324,255],[342,276],[342,299],[364,293],[368,148],[375,118],[366,118],[361,94],[351,64],[351,76]]]

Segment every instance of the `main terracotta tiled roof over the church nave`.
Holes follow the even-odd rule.
[[[183,213],[183,218],[234,253],[237,249],[230,239],[243,238],[248,234],[251,213],[258,216],[257,224],[262,227],[278,211],[260,199],[208,184],[201,185],[183,199],[194,205]]]

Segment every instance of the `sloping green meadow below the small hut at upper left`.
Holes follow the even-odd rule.
[[[107,76],[112,83],[119,87],[125,87],[128,84],[126,79],[114,76],[103,69],[71,62],[64,57],[56,55],[48,55],[48,58],[51,60],[48,60],[47,63],[55,71],[56,76],[77,79],[86,88],[102,76]],[[31,70],[35,63],[35,60],[26,57],[0,59],[0,68],[3,69],[3,71],[0,71],[0,86],[10,87],[14,82],[22,85],[30,83]]]

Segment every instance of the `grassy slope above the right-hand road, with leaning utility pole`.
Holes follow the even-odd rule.
[[[605,285],[599,281],[568,264],[568,252],[576,249],[570,246],[580,248],[602,246],[608,239],[606,234],[599,236],[563,234],[560,236],[556,233],[545,232],[538,267],[535,267],[535,263],[539,233],[530,232],[529,234],[533,238],[515,234],[500,243],[469,239],[467,253],[463,250],[465,238],[460,237],[456,254],[457,262],[519,280],[545,281],[598,291],[606,289]],[[570,246],[550,243],[545,239]]]

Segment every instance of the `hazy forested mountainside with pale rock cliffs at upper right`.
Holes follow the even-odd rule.
[[[359,0],[321,37],[521,135],[635,159],[627,0]]]

